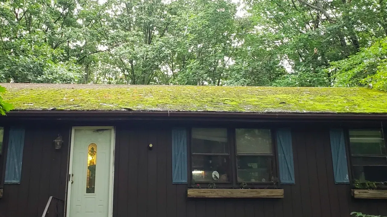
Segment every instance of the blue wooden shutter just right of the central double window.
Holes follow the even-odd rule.
[[[281,184],[295,184],[293,148],[290,129],[284,128],[277,130],[277,146],[279,178],[281,180]]]

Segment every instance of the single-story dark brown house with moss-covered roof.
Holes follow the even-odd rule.
[[[0,216],[387,215],[385,92],[0,85]]]

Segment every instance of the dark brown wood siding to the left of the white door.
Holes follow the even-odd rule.
[[[53,140],[61,134],[63,146],[55,150]],[[50,196],[64,199],[67,185],[68,127],[33,125],[26,127],[20,184],[3,184],[1,217],[40,217]],[[8,135],[5,135],[7,146]],[[7,156],[7,147],[3,156]],[[5,158],[2,158],[3,170]]]

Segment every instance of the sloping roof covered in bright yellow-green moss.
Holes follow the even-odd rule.
[[[15,110],[387,114],[368,88],[0,84]]]

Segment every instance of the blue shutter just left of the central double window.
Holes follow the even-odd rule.
[[[172,183],[187,183],[187,130],[172,129]]]

